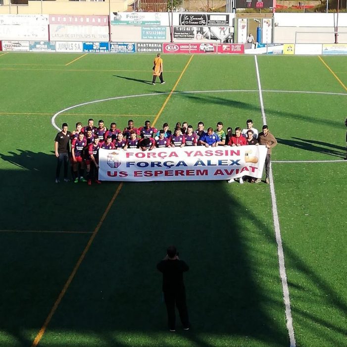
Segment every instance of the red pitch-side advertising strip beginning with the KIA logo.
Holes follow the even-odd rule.
[[[211,43],[164,43],[164,53],[226,53],[226,54],[243,54],[245,46],[243,44],[211,44]]]

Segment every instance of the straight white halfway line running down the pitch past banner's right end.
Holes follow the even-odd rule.
[[[261,114],[263,118],[263,123],[266,124],[266,115],[264,111],[264,103],[263,103],[263,95],[261,91],[260,84],[260,76],[259,76],[259,68],[258,61],[256,55],[254,55],[255,60],[255,69],[256,69],[256,77],[258,80],[258,88],[259,88],[259,99],[261,106]],[[278,211],[277,211],[277,202],[276,202],[276,194],[275,194],[275,186],[272,176],[272,167],[270,163],[270,192],[271,192],[271,201],[272,201],[272,214],[274,219],[274,227],[275,227],[275,235],[277,242],[277,254],[278,254],[278,262],[280,266],[280,277],[282,282],[282,291],[283,291],[283,300],[286,307],[286,321],[287,321],[287,329],[289,334],[290,347],[296,347],[294,327],[293,327],[293,318],[292,318],[292,310],[291,310],[291,301],[289,298],[289,287],[287,282],[287,274],[286,274],[286,266],[284,262],[284,252],[282,246],[282,237],[280,230],[280,221],[278,219]]]

